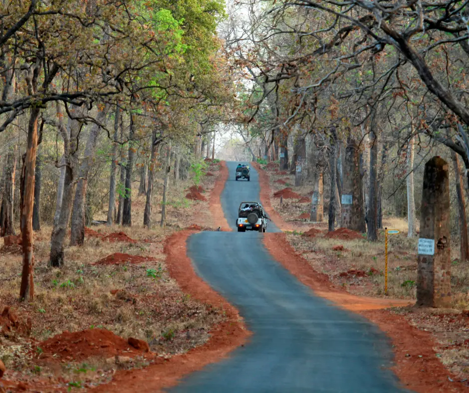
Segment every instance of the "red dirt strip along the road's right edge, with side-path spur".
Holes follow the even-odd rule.
[[[259,175],[262,172],[259,171]],[[261,188],[261,198],[262,195],[265,197],[265,190]],[[267,205],[264,200],[262,203]],[[278,214],[272,216],[279,217]],[[274,220],[275,224],[280,228],[285,227],[279,218]],[[327,275],[315,271],[304,258],[296,254],[284,233],[266,233],[263,241],[272,257],[304,285],[313,289],[316,295],[363,315],[378,325],[392,341],[395,356],[392,370],[406,388],[419,393],[468,392],[463,384],[449,380],[458,381],[437,358],[434,348],[439,344],[431,333],[419,330],[409,325],[404,317],[384,310],[409,305],[408,301],[351,295],[341,287],[334,286]]]

